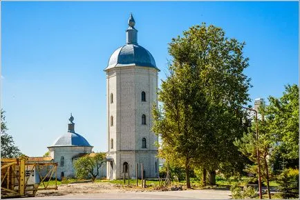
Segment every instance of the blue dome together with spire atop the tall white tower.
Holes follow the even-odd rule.
[[[152,54],[138,45],[138,30],[134,28],[135,21],[132,14],[129,17],[129,28],[126,30],[126,44],[111,54],[109,64],[105,70],[125,66],[141,66],[156,68],[156,61]]]

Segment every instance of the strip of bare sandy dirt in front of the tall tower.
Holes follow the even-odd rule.
[[[155,188],[153,191],[158,191]],[[147,188],[135,186],[122,186],[115,183],[88,182],[88,183],[68,183],[57,186],[57,190],[38,190],[35,197],[64,196],[68,194],[95,194],[95,193],[121,193],[121,192],[143,192],[149,191]]]

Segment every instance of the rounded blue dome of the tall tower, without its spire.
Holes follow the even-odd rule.
[[[156,61],[148,50],[138,44],[129,43],[113,52],[105,70],[123,66],[156,68]],[[158,70],[158,68],[156,69]]]

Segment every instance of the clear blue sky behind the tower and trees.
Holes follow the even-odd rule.
[[[280,97],[285,84],[299,81],[297,1],[2,1],[1,9],[1,108],[8,133],[28,156],[42,156],[66,133],[70,112],[75,131],[95,152],[106,151],[103,70],[125,43],[130,12],[138,43],[161,70],[159,79],[165,79],[171,39],[206,22],[245,41],[252,99]]]

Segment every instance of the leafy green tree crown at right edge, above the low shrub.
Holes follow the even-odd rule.
[[[299,168],[299,86],[287,85],[282,97],[269,97],[269,101],[265,118],[276,142],[273,154],[283,168]]]

